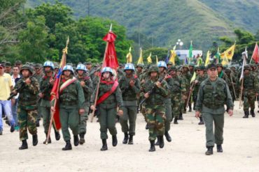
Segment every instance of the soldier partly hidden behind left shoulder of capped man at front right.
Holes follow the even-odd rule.
[[[193,96],[194,109],[196,108],[197,95],[198,95],[198,92],[200,89],[200,84],[202,84],[202,81],[207,79],[207,75],[205,75],[204,70],[205,70],[205,67],[203,65],[200,66],[199,75],[195,79],[195,87],[194,87],[194,91],[193,91],[195,93],[195,95]],[[200,122],[198,123],[198,125],[204,125],[202,114],[200,116]]]

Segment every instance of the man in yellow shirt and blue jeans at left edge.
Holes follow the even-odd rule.
[[[3,134],[3,112],[6,114],[10,123],[10,132],[15,130],[15,120],[13,119],[11,102],[7,100],[10,91],[13,89],[13,83],[9,74],[4,72],[4,65],[0,63],[0,135]]]

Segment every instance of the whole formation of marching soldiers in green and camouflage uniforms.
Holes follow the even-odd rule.
[[[16,61],[12,66],[6,62],[1,63],[0,70],[13,78],[10,97],[3,98],[3,101],[12,102],[12,114],[1,108],[1,117],[6,115],[11,132],[20,131],[22,146],[19,149],[28,148],[27,130],[32,135],[32,145],[38,144],[37,127],[41,119],[46,136],[43,143],[51,143],[51,138],[47,136],[51,114],[55,112],[55,98],[50,97],[59,64],[45,61],[43,64],[22,65],[21,61]],[[68,63],[62,70],[59,82],[59,118],[65,142],[62,150],[72,149],[69,128],[74,146],[85,143],[87,120],[91,112],[97,116],[100,125],[102,151],[108,150],[108,130],[112,146],[117,145],[117,122],[124,134],[123,144],[132,145],[137,114],[141,113],[148,130],[149,151],[153,152],[155,146],[165,146],[164,136],[168,142],[172,141],[169,134],[171,125],[178,125],[186,111],[194,110],[195,116],[200,119],[198,125],[206,126],[206,155],[213,154],[215,143],[221,153],[223,116],[225,111],[232,116],[233,102],[241,98],[243,118],[249,115],[255,117],[255,100],[258,100],[259,93],[258,71],[258,65],[246,65],[244,77],[240,79],[242,71],[239,65],[226,67],[221,63],[211,63],[207,67],[193,63],[173,65],[165,61],[158,61],[156,65],[134,66],[127,63],[120,64],[117,70],[90,62],[76,66]],[[10,115],[13,117],[10,118]],[[0,123],[0,134],[3,134],[2,126]],[[58,141],[61,136],[53,123],[52,128]]]

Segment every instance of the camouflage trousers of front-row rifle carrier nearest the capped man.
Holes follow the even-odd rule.
[[[146,119],[148,121],[148,130],[150,141],[154,141],[157,136],[165,134],[165,105],[146,104]]]

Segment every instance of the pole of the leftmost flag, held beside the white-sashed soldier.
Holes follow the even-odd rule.
[[[66,47],[63,49],[63,55],[62,55],[62,58],[64,56],[64,58],[66,58],[66,54],[67,54],[67,48],[69,46],[69,37],[67,38],[66,40]],[[65,62],[66,63],[66,62]],[[64,66],[63,66],[64,67]],[[59,76],[59,80],[58,80],[58,88],[57,88],[57,91],[59,91],[59,84],[60,84],[60,80],[61,80],[61,76]],[[54,107],[57,107],[57,99],[59,97],[55,97],[55,102],[54,102]],[[51,126],[52,126],[52,123],[53,123],[53,120],[54,120],[54,112],[50,111],[50,114],[51,114],[51,118],[50,118],[50,125],[48,127],[48,134],[47,134],[47,138],[46,138],[46,142],[45,144],[48,145],[48,140],[50,139],[50,131],[51,131]]]

